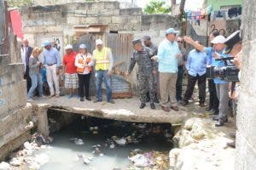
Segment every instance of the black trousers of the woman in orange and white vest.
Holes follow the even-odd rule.
[[[84,98],[84,88],[85,88],[85,97],[89,98],[89,86],[90,86],[90,73],[89,74],[79,74],[79,96]]]

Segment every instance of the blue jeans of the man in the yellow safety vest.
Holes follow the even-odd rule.
[[[108,71],[96,71],[96,98],[102,101],[102,79],[106,86],[106,94],[109,101],[112,99],[112,89],[110,85],[111,78],[108,77]]]

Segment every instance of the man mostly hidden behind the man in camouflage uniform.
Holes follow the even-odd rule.
[[[150,36],[144,36],[143,37],[143,42],[144,45],[148,48],[150,48],[153,52],[153,55],[157,55],[157,46],[151,42],[151,37]],[[160,89],[159,89],[159,72],[158,72],[158,61],[153,61],[153,66],[154,66],[154,71],[153,71],[153,75],[154,75],[154,103],[159,103],[158,100],[158,94],[160,94]],[[150,100],[149,98],[149,88],[148,88],[148,93],[147,93],[147,102]]]

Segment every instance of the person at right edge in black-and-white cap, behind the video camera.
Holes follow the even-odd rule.
[[[242,42],[241,31],[235,31],[229,37],[226,38],[226,42],[225,42],[226,51],[224,52],[225,54],[230,54],[230,57],[235,57],[234,65],[236,65],[236,68],[240,70],[238,78],[240,78],[240,73],[241,73],[241,47],[242,47],[241,42]],[[233,105],[236,105],[239,88],[240,88],[239,82],[230,82],[230,99],[232,99]],[[236,106],[235,108],[233,108],[233,112],[236,112],[234,110],[236,110]],[[236,133],[231,134],[230,136],[236,139]],[[236,142],[234,140],[233,142],[227,143],[227,145],[235,148]]]

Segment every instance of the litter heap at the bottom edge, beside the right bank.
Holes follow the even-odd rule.
[[[127,169],[142,169],[142,170],[165,170],[169,167],[168,152],[132,150],[131,156],[128,159],[132,165]]]

